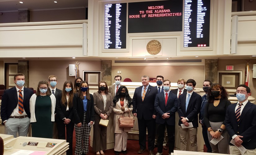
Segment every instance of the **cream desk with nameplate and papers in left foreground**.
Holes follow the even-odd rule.
[[[69,143],[62,139],[19,136],[4,143],[4,148],[5,155],[18,154],[22,151],[27,155],[65,155]]]

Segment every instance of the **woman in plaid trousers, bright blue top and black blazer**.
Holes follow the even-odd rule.
[[[94,122],[93,96],[89,93],[87,81],[82,81],[78,94],[74,96],[74,123],[76,148],[75,154],[87,154],[89,151],[89,134]],[[83,142],[83,144],[82,144]]]

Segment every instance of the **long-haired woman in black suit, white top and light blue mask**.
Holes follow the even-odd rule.
[[[65,139],[65,127],[67,142],[69,143],[69,149],[67,155],[72,155],[73,144],[73,84],[70,80],[65,81],[62,89],[62,93],[59,93],[56,97],[56,124],[58,129],[58,138]]]

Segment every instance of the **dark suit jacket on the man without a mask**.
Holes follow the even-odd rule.
[[[134,91],[132,98],[132,113],[137,113],[137,118],[142,119],[142,116],[145,120],[153,119],[153,115],[157,115],[155,111],[155,96],[158,94],[158,90],[154,86],[148,86],[145,98],[142,101],[141,90],[142,87],[137,87]]]

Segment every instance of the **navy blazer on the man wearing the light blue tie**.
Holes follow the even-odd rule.
[[[182,124],[181,117],[186,117],[189,120],[188,122],[192,122],[194,127],[198,127],[198,113],[200,111],[202,97],[193,91],[186,111],[186,95],[187,93],[183,93],[178,98],[179,126]]]

